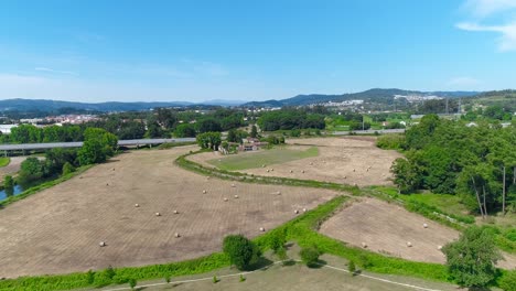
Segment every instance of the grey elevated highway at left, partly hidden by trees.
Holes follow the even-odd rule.
[[[147,146],[161,144],[168,142],[192,142],[195,138],[180,139],[136,139],[136,140],[119,140],[118,146]],[[0,151],[20,151],[20,150],[46,150],[55,148],[80,148],[82,141],[76,142],[49,142],[49,143],[20,143],[20,144],[0,144]]]

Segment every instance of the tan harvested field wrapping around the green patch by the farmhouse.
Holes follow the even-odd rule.
[[[327,181],[358,186],[390,185],[389,172],[393,161],[402,155],[396,151],[376,148],[373,137],[313,138],[292,139],[288,143],[293,150],[307,150],[318,147],[319,155],[279,164],[259,162],[259,168],[241,170],[249,174],[265,176],[284,176],[302,180]],[[254,152],[238,153],[240,159],[254,159]],[[206,152],[191,157],[195,162],[207,166],[213,159],[229,159],[218,153]],[[271,169],[273,171],[271,171]],[[269,170],[269,171],[267,171]],[[292,171],[292,172],[291,172]],[[304,171],[304,173],[303,173]]]

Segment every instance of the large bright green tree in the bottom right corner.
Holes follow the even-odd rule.
[[[450,274],[461,287],[487,287],[496,276],[501,259],[493,235],[483,227],[472,226],[459,240],[442,248]]]

